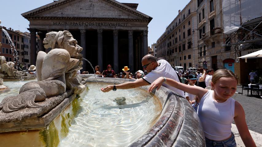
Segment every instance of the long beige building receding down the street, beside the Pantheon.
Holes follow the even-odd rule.
[[[168,25],[156,44],[156,57],[184,69],[198,66],[196,1],[191,0]]]

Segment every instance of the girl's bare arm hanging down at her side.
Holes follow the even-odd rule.
[[[237,130],[245,146],[256,146],[253,138],[249,133],[249,129],[245,120],[245,112],[241,104],[235,101],[235,117],[234,117]]]

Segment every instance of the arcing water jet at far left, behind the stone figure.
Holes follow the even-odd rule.
[[[11,37],[9,36],[9,34],[8,34],[8,32],[5,30],[5,29],[3,29],[3,28],[1,28],[2,29],[2,31],[5,33],[5,35],[6,35],[6,37],[7,37],[7,40],[8,40],[8,42],[9,42],[9,44],[10,44],[10,46],[11,46],[11,51],[13,52],[13,58],[14,58],[14,66],[15,66],[15,69],[17,69],[17,70],[19,70],[19,71],[21,71],[21,68],[20,68],[20,62],[19,62],[19,57],[18,57],[18,52],[17,52],[17,50],[15,49],[15,45],[14,45],[14,43],[13,43],[13,41],[12,41],[12,39],[11,39]]]

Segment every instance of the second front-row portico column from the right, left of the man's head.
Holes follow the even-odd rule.
[[[133,31],[128,31],[128,61],[130,72],[134,71]]]

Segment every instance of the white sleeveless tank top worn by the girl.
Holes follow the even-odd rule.
[[[235,100],[218,103],[213,99],[213,90],[201,98],[197,114],[202,123],[205,137],[211,140],[225,140],[231,136],[231,123],[235,115]]]

